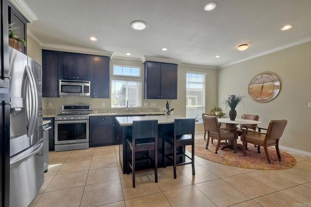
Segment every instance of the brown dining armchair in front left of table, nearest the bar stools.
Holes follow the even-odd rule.
[[[217,117],[215,116],[204,115],[203,119],[207,129],[206,149],[208,148],[209,138],[218,140],[215,149],[215,154],[217,154],[221,140],[233,140],[234,141],[233,152],[235,153],[237,151],[237,142],[235,142],[235,139],[237,138],[237,129],[228,127],[223,128],[219,127]]]

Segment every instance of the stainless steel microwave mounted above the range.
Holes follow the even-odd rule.
[[[59,95],[91,96],[91,82],[84,80],[59,80]]]

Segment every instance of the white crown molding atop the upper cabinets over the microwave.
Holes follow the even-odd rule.
[[[54,44],[46,44],[46,43],[42,45],[42,49],[57,50],[57,51],[63,51],[63,52],[76,52],[76,53],[84,53],[84,54],[91,54],[91,55],[103,55],[103,56],[108,56],[110,58],[113,54],[113,51],[106,51],[106,50],[101,50],[101,49],[79,48],[79,47],[54,45]]]

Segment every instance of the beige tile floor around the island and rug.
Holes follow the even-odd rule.
[[[202,134],[196,134],[202,137]],[[311,206],[311,157],[266,171],[230,167],[199,157],[191,166],[123,175],[119,145],[50,152],[49,172],[30,207],[307,207]],[[215,155],[217,156],[217,155]]]

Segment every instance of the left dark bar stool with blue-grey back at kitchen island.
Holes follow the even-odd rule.
[[[132,159],[128,164],[132,169],[133,188],[135,188],[135,162],[150,159],[155,163],[155,182],[157,183],[157,120],[133,121],[132,137],[126,142],[132,150]],[[155,150],[155,159],[149,157],[148,150]],[[135,153],[147,151],[146,158],[135,159]],[[127,174],[129,171],[127,170]]]

